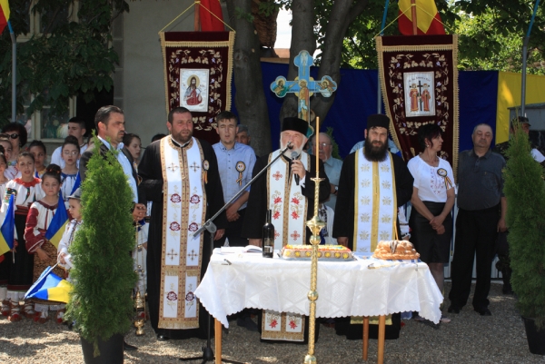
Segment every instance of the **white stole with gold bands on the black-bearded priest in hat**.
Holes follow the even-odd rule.
[[[391,153],[382,162],[370,162],[363,148],[355,155],[353,251],[372,252],[379,241],[395,236],[397,201]]]

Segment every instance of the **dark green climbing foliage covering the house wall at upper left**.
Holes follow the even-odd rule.
[[[118,55],[110,44],[111,27],[116,16],[128,11],[126,1],[22,0],[10,6],[17,37],[31,35],[31,16],[39,16],[41,33],[17,44],[17,113],[24,113],[23,100],[29,95],[34,100],[28,115],[44,105],[62,114],[70,97],[83,95],[90,102],[95,90],[112,88]],[[75,7],[78,21],[70,22]],[[7,30],[0,35],[0,54],[0,123],[6,123],[12,101],[12,44]]]

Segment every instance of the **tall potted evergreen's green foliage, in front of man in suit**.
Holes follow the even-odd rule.
[[[94,137],[94,145],[99,145]],[[74,269],[74,290],[66,317],[75,321],[75,330],[94,343],[124,334],[131,327],[136,282],[134,249],[133,192],[116,159],[117,151],[105,156],[95,148],[87,164],[82,186],[83,224],[70,249]]]

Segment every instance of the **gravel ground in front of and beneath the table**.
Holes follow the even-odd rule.
[[[451,289],[446,284],[446,291]],[[471,301],[471,298],[470,298]],[[446,302],[448,307],[449,302]],[[545,363],[545,357],[530,354],[526,333],[515,310],[515,299],[501,294],[501,284],[490,290],[491,317],[481,317],[466,305],[452,321],[434,330],[420,322],[406,320],[400,339],[386,340],[386,363]],[[256,332],[230,323],[223,335],[223,358],[248,363],[302,363],[307,347],[303,345],[263,344]],[[179,363],[178,358],[201,354],[203,340],[157,341],[146,324],[145,335],[126,336],[138,351],[125,353],[125,363]],[[377,341],[369,344],[369,362],[376,362]],[[316,359],[321,364],[362,363],[362,340],[346,340],[322,326],[316,344]],[[192,361],[200,363],[202,360]],[[78,335],[64,325],[31,320],[11,323],[0,319],[0,363],[83,363]]]

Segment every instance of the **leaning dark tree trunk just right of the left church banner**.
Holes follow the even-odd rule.
[[[236,95],[234,103],[240,123],[248,125],[252,147],[257,155],[271,152],[271,124],[260,61],[260,45],[253,23],[237,18],[236,10],[252,15],[252,0],[227,0],[229,24],[236,31],[233,52],[233,71]]]

